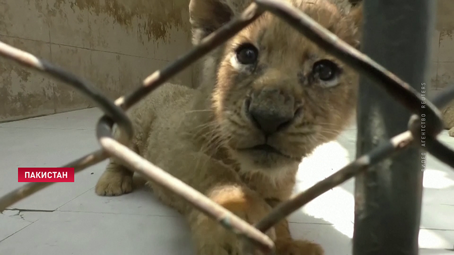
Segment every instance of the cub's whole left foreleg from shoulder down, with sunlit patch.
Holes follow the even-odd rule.
[[[180,139],[179,141],[184,141]],[[255,224],[271,211],[264,199],[248,188],[229,165],[214,160],[194,148],[193,143],[180,143],[172,155],[161,163],[168,173],[192,186],[211,201],[236,214],[249,224]],[[148,182],[157,197],[183,213],[192,232],[197,255],[242,254],[242,240],[215,220],[205,216],[168,189]],[[275,240],[274,228],[266,233]]]

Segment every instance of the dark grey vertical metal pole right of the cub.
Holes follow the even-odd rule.
[[[432,0],[363,1],[362,51],[418,92],[429,90]],[[357,157],[408,128],[410,112],[360,78]],[[420,141],[420,138],[415,138]],[[354,255],[416,255],[422,197],[421,150],[411,148],[355,179]]]

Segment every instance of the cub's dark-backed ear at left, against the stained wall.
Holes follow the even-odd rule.
[[[232,0],[191,0],[189,17],[192,27],[192,43],[198,44],[203,38],[235,15]]]

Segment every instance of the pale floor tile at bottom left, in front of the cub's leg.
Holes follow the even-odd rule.
[[[42,214],[46,215],[0,242],[0,254],[193,255],[188,228],[180,218]]]

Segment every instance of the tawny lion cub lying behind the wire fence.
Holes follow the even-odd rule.
[[[324,0],[286,1],[359,45],[360,7],[347,13]],[[193,43],[250,3],[191,0]],[[349,124],[357,86],[354,70],[266,13],[204,58],[198,89],[165,84],[134,106],[128,112],[135,129],[129,148],[254,224],[291,196],[302,158]],[[241,254],[234,234],[167,189],[148,184],[186,217],[198,255]],[[131,191],[132,172],[111,159],[96,193]],[[287,221],[267,234],[278,255],[323,254],[318,244],[292,239]]]

